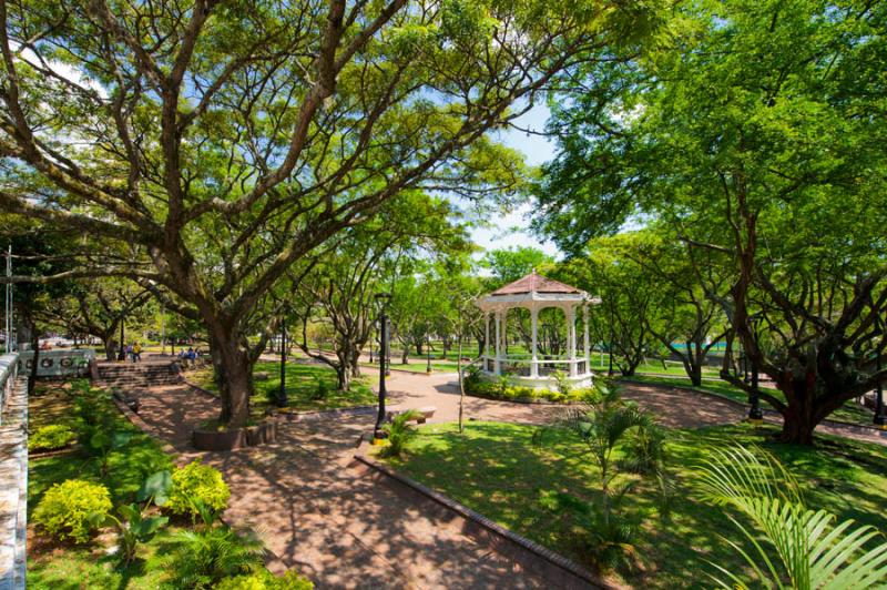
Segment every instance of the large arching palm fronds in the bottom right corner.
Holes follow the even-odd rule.
[[[763,449],[713,451],[703,465],[700,486],[707,500],[731,506],[754,523],[756,530],[750,530],[728,516],[754,548],[751,555],[725,540],[754,570],[755,586],[839,590],[887,581],[887,542],[871,542],[878,531],[854,527],[853,520],[835,525],[835,515],[807,509],[797,480]],[[757,533],[776,550],[778,560],[771,559]],[[737,574],[712,566],[726,576],[727,581],[713,577],[722,588],[748,588]]]

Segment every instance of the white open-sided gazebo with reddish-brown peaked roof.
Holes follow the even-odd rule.
[[[554,388],[554,372],[561,372],[573,385],[591,385],[591,348],[589,343],[589,306],[601,303],[584,291],[558,281],[540,276],[533,271],[523,278],[514,281],[475,302],[483,311],[486,322],[486,349],[481,370],[491,377],[509,375],[516,385],[534,388]],[[530,311],[532,324],[532,345],[528,355],[506,355],[508,311],[523,307]],[[560,307],[567,321],[567,353],[558,356],[539,357],[538,324],[539,311],[546,307]],[[583,315],[582,356],[577,355],[577,309]],[[490,317],[493,322],[493,337],[490,338]],[[491,347],[492,345],[492,347]]]

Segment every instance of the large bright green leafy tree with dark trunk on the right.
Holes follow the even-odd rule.
[[[720,303],[782,391],[759,395],[786,441],[812,442],[887,380],[885,22],[864,1],[687,4],[673,47],[597,77],[608,91],[559,115],[574,133],[539,193],[564,247],[640,211],[717,255],[732,274]]]

